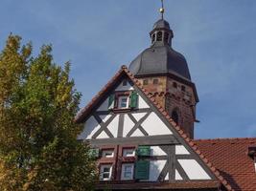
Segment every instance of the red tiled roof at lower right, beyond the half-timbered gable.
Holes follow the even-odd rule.
[[[219,170],[236,191],[256,191],[254,161],[247,155],[256,138],[218,138],[194,140],[199,150]]]

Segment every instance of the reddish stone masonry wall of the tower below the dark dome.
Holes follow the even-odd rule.
[[[178,125],[190,138],[194,138],[196,98],[192,87],[169,76],[149,76],[138,80],[171,117],[174,111],[177,113]]]

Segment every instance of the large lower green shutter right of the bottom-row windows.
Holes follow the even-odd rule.
[[[150,178],[150,161],[138,160],[135,162],[135,179],[149,180]]]

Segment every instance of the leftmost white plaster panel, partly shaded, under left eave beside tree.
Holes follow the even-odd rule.
[[[88,139],[91,138],[95,132],[97,132],[101,126],[97,122],[94,117],[89,117],[85,122],[81,135],[78,137],[79,139]]]

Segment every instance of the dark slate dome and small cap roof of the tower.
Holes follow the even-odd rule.
[[[153,25],[154,31],[170,30],[169,23],[163,19]],[[140,53],[129,65],[129,71],[134,75],[175,74],[191,81],[189,68],[185,57],[164,42],[154,42],[150,48]]]

